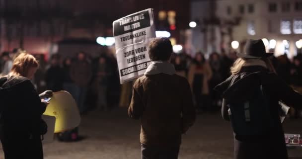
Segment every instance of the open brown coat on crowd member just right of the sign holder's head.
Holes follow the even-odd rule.
[[[209,90],[209,80],[212,78],[212,70],[211,67],[208,63],[204,63],[203,65],[203,70],[202,71],[197,71],[196,70],[196,65],[192,64],[190,66],[190,70],[189,70],[189,74],[188,74],[188,81],[191,85],[191,88],[193,90],[193,80],[194,80],[194,75],[195,74],[203,74],[204,78],[203,81],[201,81],[203,83],[202,88],[202,94],[209,94],[210,90]]]

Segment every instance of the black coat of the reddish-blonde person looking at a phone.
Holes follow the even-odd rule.
[[[41,115],[46,105],[29,79],[6,81],[0,78],[0,140],[5,159],[43,159],[41,135],[47,126]]]

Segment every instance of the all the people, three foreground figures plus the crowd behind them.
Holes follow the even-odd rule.
[[[97,110],[110,110],[110,92],[121,92],[119,104],[129,105],[128,115],[141,120],[142,159],[177,159],[182,134],[193,126],[196,111],[220,106],[234,132],[235,159],[288,158],[280,101],[302,109],[302,55],[292,61],[286,54],[276,58],[266,53],[261,39],[248,40],[243,53],[212,53],[209,58],[201,52],[194,58],[172,55],[168,38],[154,39],[149,48],[151,65],[133,85],[129,82],[132,93],[129,83],[122,91],[114,89],[119,85],[116,60],[105,54],[96,59],[84,52],[74,58],[55,54],[47,64],[43,56],[21,49],[2,53],[0,140],[5,158],[43,159],[41,135],[47,124],[41,115],[49,104],[44,97],[60,90],[73,95],[81,114],[90,102]],[[16,96],[20,100],[13,100]]]

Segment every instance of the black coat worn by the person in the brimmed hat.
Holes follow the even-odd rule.
[[[234,87],[231,91],[228,86],[234,79]],[[236,82],[241,79],[241,82]],[[215,89],[224,93],[222,115],[228,119],[227,101],[241,100],[253,92],[255,84],[261,82],[264,93],[270,98],[269,106],[273,124],[269,131],[260,136],[239,136],[234,133],[235,159],[288,159],[284,132],[279,117],[279,101],[289,106],[299,107],[302,105],[302,95],[294,91],[276,74],[260,66],[243,67],[241,73],[232,75],[226,81],[219,84]]]

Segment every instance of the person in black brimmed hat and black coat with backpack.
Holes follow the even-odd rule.
[[[302,95],[280,79],[262,40],[248,40],[231,76],[215,87],[222,116],[231,121],[235,159],[288,159],[279,102],[299,107]]]

